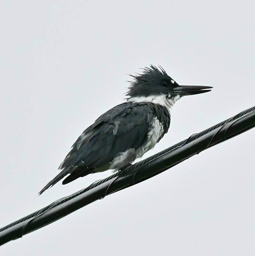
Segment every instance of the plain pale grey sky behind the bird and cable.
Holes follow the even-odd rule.
[[[0,2],[0,227],[110,173],[37,193],[83,130],[161,65],[210,85],[146,154],[255,105],[254,1]],[[0,247],[9,255],[254,255],[254,130]]]

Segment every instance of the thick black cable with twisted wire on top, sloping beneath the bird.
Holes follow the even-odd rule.
[[[255,126],[255,106],[70,196],[0,228],[0,245],[42,228],[107,195],[147,180],[201,151]]]

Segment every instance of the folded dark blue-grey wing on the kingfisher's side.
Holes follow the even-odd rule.
[[[76,140],[60,168],[100,168],[119,153],[139,148],[152,119],[153,110],[146,104],[123,103],[108,110]]]

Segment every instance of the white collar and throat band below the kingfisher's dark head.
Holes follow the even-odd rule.
[[[163,107],[166,107],[168,109],[168,111],[170,112],[173,105],[175,104],[175,102],[177,100],[179,100],[180,98],[181,98],[180,95],[176,95],[176,96],[170,98],[170,95],[167,96],[167,95],[162,94],[162,95],[151,95],[148,97],[145,97],[145,96],[131,97],[131,98],[127,99],[127,101],[136,102],[136,103],[150,102],[150,103],[159,104]]]

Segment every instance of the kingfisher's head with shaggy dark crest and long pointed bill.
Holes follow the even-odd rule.
[[[131,85],[128,87],[126,95],[130,101],[157,101],[159,99],[170,102],[171,107],[176,100],[185,95],[194,95],[210,92],[211,86],[200,85],[179,85],[167,75],[162,67],[156,68],[151,65],[143,68],[141,73],[130,75],[133,77]],[[147,100],[146,100],[147,99]],[[156,103],[156,102],[155,102]]]

